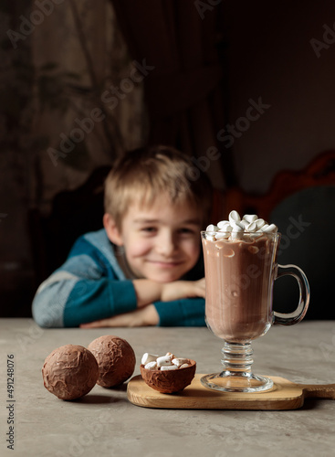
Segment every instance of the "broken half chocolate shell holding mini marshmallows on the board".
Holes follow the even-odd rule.
[[[187,359],[186,363],[188,367],[164,371],[161,369],[148,369],[141,365],[141,377],[148,386],[162,392],[162,394],[173,394],[186,388],[194,378],[195,361]]]

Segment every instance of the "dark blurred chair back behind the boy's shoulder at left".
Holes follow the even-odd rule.
[[[103,186],[109,171],[110,166],[100,166],[79,188],[60,192],[47,217],[38,208],[29,210],[36,288],[67,259],[80,235],[103,227]]]

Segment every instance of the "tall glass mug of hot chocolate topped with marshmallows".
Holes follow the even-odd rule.
[[[269,377],[254,375],[251,342],[265,335],[273,324],[297,324],[309,306],[309,282],[296,265],[278,265],[280,233],[256,215],[228,221],[201,232],[204,250],[205,321],[225,340],[221,360],[224,370],[206,375],[206,388],[229,392],[259,392],[273,387]],[[298,281],[299,301],[290,314],[272,309],[272,291],[280,276]]]

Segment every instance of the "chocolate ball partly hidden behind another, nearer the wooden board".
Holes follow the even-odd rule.
[[[99,386],[112,388],[131,377],[136,357],[126,340],[119,336],[104,335],[92,341],[88,347],[98,361]]]

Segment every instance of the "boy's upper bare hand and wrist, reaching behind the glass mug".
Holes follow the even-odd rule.
[[[204,278],[199,281],[173,281],[162,286],[162,302],[205,296]]]

